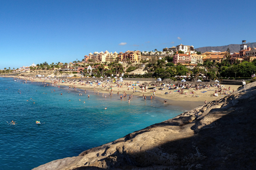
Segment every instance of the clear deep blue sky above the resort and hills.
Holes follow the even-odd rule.
[[[255,1],[0,0],[0,69],[90,52],[256,42]]]

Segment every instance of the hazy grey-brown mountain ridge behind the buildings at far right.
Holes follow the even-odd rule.
[[[256,42],[248,42],[246,43],[247,47],[256,47]],[[229,45],[223,45],[223,46],[205,46],[200,48],[195,48],[197,51],[201,51],[201,53],[206,51],[226,51],[227,49],[230,49],[230,53],[238,52],[240,50],[240,44],[229,44]]]

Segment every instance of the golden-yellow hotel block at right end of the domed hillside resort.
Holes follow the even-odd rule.
[[[135,61],[140,62],[141,60],[141,51],[126,51],[125,53],[119,52],[118,54],[119,61]]]

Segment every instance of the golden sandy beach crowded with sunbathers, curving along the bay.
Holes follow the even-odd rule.
[[[19,77],[19,78],[32,81],[32,82],[45,82],[50,84],[52,83],[51,80],[46,80],[45,78],[38,78],[38,77],[33,77],[33,78]],[[76,80],[76,78],[72,80]],[[97,78],[95,78],[95,80],[97,80]],[[149,83],[150,81],[146,81],[146,82]],[[112,86],[112,91],[114,95],[117,94],[118,92],[119,92],[119,95],[123,95],[123,93],[125,92],[128,97],[129,95],[133,95],[133,96],[144,95],[146,96],[147,99],[150,99],[151,95],[154,96],[152,91],[154,91],[153,89],[156,88],[155,96],[157,97],[158,100],[160,100],[161,102],[164,102],[164,100],[167,100],[168,105],[182,106],[186,110],[194,109],[195,107],[203,105],[205,100],[208,103],[208,102],[217,100],[219,98],[222,98],[226,96],[226,94],[232,93],[233,89],[236,91],[237,88],[240,87],[239,85],[225,85],[222,87],[222,89],[227,88],[226,94],[220,94],[218,92],[218,97],[216,97],[216,96],[213,96],[213,93],[215,92],[215,90],[218,90],[217,87],[210,87],[209,89],[200,88],[199,90],[194,90],[195,88],[184,89],[183,93],[187,93],[187,94],[180,94],[176,89],[168,90],[168,88],[165,88],[165,90],[160,90],[161,86],[147,86],[148,89],[146,89],[146,92],[144,90],[142,92],[141,87],[134,86],[134,87],[137,87],[137,89],[135,90],[135,92],[133,92],[133,89],[131,89],[133,87],[132,84],[135,85],[136,82],[123,80],[122,84],[125,84],[125,83],[131,84],[131,85],[122,85],[121,87],[118,87],[116,86],[117,84],[115,84],[115,82],[110,82],[110,83],[103,82],[100,85],[97,85],[96,83],[93,83],[90,85],[88,84],[82,85],[83,83],[78,81],[72,81],[72,82],[61,81],[60,83],[57,83],[57,86],[70,86],[70,89],[73,89],[74,86],[76,86],[76,89],[81,89],[82,91],[89,90],[89,91],[95,91],[96,93],[98,93],[99,91],[99,93],[101,94],[103,93],[104,95],[110,94],[111,91],[110,90],[107,91],[107,89],[109,89]],[[142,83],[144,83],[144,81],[141,81],[138,84],[142,84]],[[102,87],[102,85],[105,87]],[[230,91],[228,90],[229,87],[230,87]],[[194,94],[192,94],[192,92]],[[168,94],[165,94],[165,93],[168,93]],[[198,95],[198,97],[195,97],[196,95]]]

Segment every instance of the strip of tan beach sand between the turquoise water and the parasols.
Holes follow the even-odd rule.
[[[30,82],[45,82],[45,83],[49,83],[52,84],[51,80],[45,80],[44,78],[37,78],[37,77],[21,77],[21,76],[8,76],[8,77],[13,77],[13,78],[19,78],[19,79],[23,79],[23,80],[27,80]],[[97,80],[97,79],[95,79]],[[129,80],[123,80],[123,83],[129,83],[131,81]],[[147,83],[149,83],[150,81],[146,81]],[[71,88],[73,88],[74,86],[77,86],[77,89],[80,89],[82,92],[84,92],[84,89],[86,89],[86,91],[94,91],[95,93],[97,93],[97,91],[99,91],[99,93],[103,93],[108,94],[110,93],[110,91],[106,91],[106,88],[102,88],[102,87],[97,87],[96,84],[93,85],[80,85],[77,82],[75,82],[75,84],[72,83],[57,83],[57,85],[60,86],[66,86],[69,87],[71,86]],[[135,82],[132,82],[135,83]],[[144,82],[140,82],[140,84],[142,84]],[[102,83],[103,84],[103,83]],[[104,83],[105,84],[105,83]],[[108,84],[108,86],[110,87],[110,85],[115,85],[113,82]],[[229,86],[229,85],[228,85]],[[228,86],[226,86],[226,88],[228,88]],[[94,90],[95,87],[95,90]],[[142,97],[143,94],[145,96],[147,96],[147,99],[150,98],[151,95],[153,95],[150,91],[153,89],[153,87],[155,87],[156,90],[156,98],[157,100],[159,100],[160,102],[163,103],[164,100],[167,99],[167,105],[172,105],[172,106],[178,106],[181,108],[186,108],[185,110],[191,110],[194,109],[198,106],[202,106],[204,105],[205,101],[207,101],[207,103],[215,101],[215,100],[219,100],[220,98],[223,98],[227,95],[222,95],[219,94],[218,97],[213,97],[211,96],[212,93],[214,92],[213,90],[216,90],[216,87],[211,87],[210,90],[208,89],[199,89],[198,91],[194,91],[192,88],[187,90],[185,89],[185,91],[187,91],[187,95],[182,94],[180,95],[178,92],[175,92],[174,89],[172,90],[159,90],[160,86],[148,86],[148,89],[146,92],[141,92],[141,88],[138,87],[138,91],[137,92],[133,92],[132,90],[128,90],[129,87],[124,86],[124,87],[114,87],[112,88],[113,90],[113,95],[117,94],[117,92],[119,92],[119,95],[123,94],[123,92],[125,91],[127,93],[127,96],[129,97],[129,95],[133,95],[133,96],[139,96]],[[237,90],[238,87],[240,87],[239,85],[230,85],[230,91],[232,91],[232,89],[234,89],[235,91]],[[130,87],[131,88],[131,87]],[[194,95],[199,95],[199,97],[192,97],[193,94],[191,94],[191,92],[194,91],[195,94]],[[171,92],[171,94],[165,94],[165,92]],[[229,93],[229,92],[228,92]],[[232,93],[231,93],[232,94]]]

